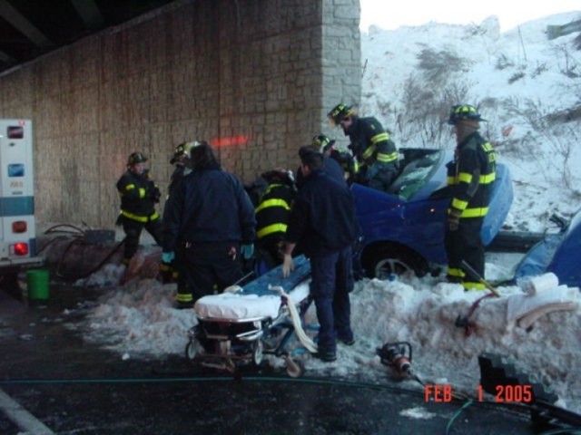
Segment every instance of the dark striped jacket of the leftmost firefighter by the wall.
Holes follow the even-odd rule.
[[[159,218],[155,203],[159,202],[160,189],[147,175],[138,175],[126,170],[117,181],[117,190],[121,197],[121,210],[126,218],[147,221]]]

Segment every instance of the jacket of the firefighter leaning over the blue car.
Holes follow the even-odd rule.
[[[369,166],[376,162],[397,165],[396,145],[377,119],[355,118],[345,135],[349,136],[350,149],[359,162]]]

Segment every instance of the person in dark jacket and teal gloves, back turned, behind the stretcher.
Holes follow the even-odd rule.
[[[241,181],[222,170],[211,145],[196,141],[190,155],[192,173],[168,198],[163,231],[162,261],[179,258],[178,308],[241,279],[241,260],[253,255],[256,227]]]

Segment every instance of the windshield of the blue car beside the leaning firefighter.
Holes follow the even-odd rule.
[[[389,193],[398,195],[399,198],[412,198],[422,186],[426,184],[432,169],[438,165],[443,151],[427,150],[425,153],[408,156],[404,151],[404,159],[400,164],[404,165],[397,179],[389,186]]]

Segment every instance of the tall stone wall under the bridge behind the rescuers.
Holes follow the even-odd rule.
[[[41,222],[113,227],[135,150],[166,189],[174,147],[210,140],[250,183],[297,166],[326,113],[359,102],[359,0],[181,0],[0,76],[33,120]]]

